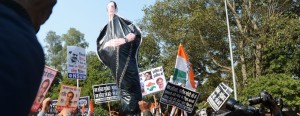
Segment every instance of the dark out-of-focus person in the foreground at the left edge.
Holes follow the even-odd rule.
[[[26,116],[41,83],[45,58],[36,33],[56,0],[0,0],[0,107],[3,116]]]

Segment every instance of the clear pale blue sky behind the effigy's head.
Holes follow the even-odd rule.
[[[57,0],[50,18],[41,26],[37,37],[41,45],[49,31],[57,35],[66,34],[70,28],[76,28],[84,34],[89,43],[88,51],[96,51],[96,39],[100,30],[108,22],[106,6],[110,0]],[[114,0],[118,6],[118,15],[137,23],[142,19],[142,9],[153,5],[155,0]],[[45,48],[44,48],[45,49]]]

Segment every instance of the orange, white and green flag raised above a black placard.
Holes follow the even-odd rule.
[[[189,88],[193,91],[196,90],[194,71],[181,44],[178,47],[173,82],[185,83],[186,88]]]

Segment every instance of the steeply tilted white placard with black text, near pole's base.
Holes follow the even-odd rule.
[[[224,83],[220,83],[207,98],[207,101],[215,111],[218,111],[229,98],[231,92],[232,89],[230,87]]]

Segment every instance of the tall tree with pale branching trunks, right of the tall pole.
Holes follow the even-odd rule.
[[[239,47],[241,65],[243,71],[243,78],[247,79],[245,74],[246,62],[245,60],[252,60],[255,66],[254,76],[259,77],[262,74],[271,74],[271,73],[282,73],[282,72],[270,72],[269,68],[277,67],[281,64],[286,64],[284,62],[277,62],[275,65],[269,65],[269,62],[278,59],[277,57],[268,57],[271,54],[267,52],[270,51],[270,46],[285,46],[287,42],[293,41],[296,38],[299,38],[297,34],[299,33],[299,12],[294,10],[294,8],[299,8],[298,0],[278,0],[278,1],[227,1],[229,10],[231,11],[231,19],[233,26],[236,29],[233,29],[235,37],[238,41],[236,45]],[[292,26],[292,28],[290,28]],[[239,39],[240,38],[240,39]],[[277,39],[276,39],[277,38]],[[283,39],[284,38],[284,39]],[[278,39],[283,39],[281,43]],[[274,41],[275,40],[275,41]],[[290,43],[291,46],[299,45],[299,41],[293,41]],[[272,45],[271,45],[272,44]],[[278,47],[277,47],[278,48]],[[297,52],[294,52],[296,48],[290,49],[290,55],[287,56],[287,60],[294,55],[297,55]],[[267,52],[266,52],[267,51]],[[285,48],[279,48],[276,50],[277,53],[287,52]],[[296,50],[297,51],[297,50]],[[251,53],[252,52],[252,53]],[[247,56],[251,57],[245,57]],[[253,56],[253,57],[252,57]],[[270,59],[266,59],[266,57]],[[281,59],[281,58],[279,58]],[[267,64],[267,65],[266,65]],[[283,65],[284,68],[286,66]],[[294,67],[294,69],[299,68],[299,66]],[[274,71],[274,70],[273,70]],[[285,72],[293,73],[295,72]],[[246,82],[246,80],[244,80]]]

